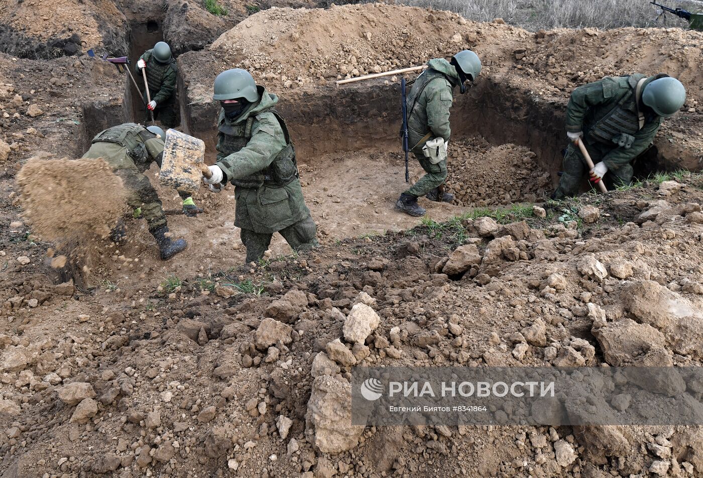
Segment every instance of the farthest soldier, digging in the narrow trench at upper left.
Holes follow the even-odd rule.
[[[136,62],[137,75],[142,75],[142,68],[145,68],[151,94],[151,101],[147,103],[146,89],[143,92],[146,109],[153,111],[154,120],[160,121],[164,127],[175,127],[176,60],[171,55],[171,47],[164,41],[159,41],[153,49],[145,51]],[[145,113],[148,117],[149,112],[145,110]]]

